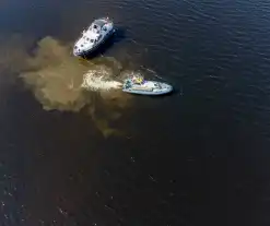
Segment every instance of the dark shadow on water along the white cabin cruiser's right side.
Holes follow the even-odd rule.
[[[86,60],[91,60],[95,57],[103,56],[110,48],[113,48],[115,44],[122,41],[125,38],[126,38],[126,28],[117,27],[115,28],[115,33],[110,35],[98,48],[96,48],[94,51],[83,55],[82,58]]]

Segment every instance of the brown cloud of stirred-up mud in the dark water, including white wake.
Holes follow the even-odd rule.
[[[111,57],[89,61],[75,58],[70,45],[52,37],[40,39],[31,51],[22,45],[15,50],[12,46],[8,45],[5,52],[16,53],[1,60],[14,68],[12,58],[20,57],[13,72],[20,74],[45,110],[78,112],[85,108],[105,136],[119,133],[109,123],[119,119],[132,100],[120,91],[127,74],[120,62]]]

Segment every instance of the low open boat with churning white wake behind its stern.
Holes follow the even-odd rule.
[[[173,86],[155,81],[146,81],[142,76],[132,76],[125,80],[122,91],[131,94],[164,95],[173,91]]]

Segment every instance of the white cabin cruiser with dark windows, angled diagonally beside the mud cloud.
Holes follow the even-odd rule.
[[[83,57],[95,51],[115,33],[114,22],[109,17],[96,19],[75,41],[73,55]]]

